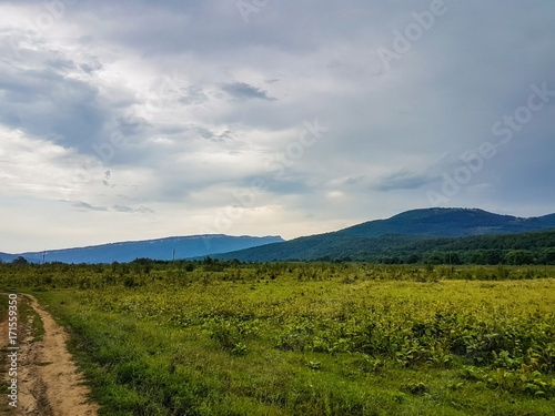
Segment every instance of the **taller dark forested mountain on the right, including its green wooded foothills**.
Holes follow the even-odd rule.
[[[553,230],[535,232],[549,229]],[[548,262],[554,247],[555,214],[519,219],[482,210],[430,209],[408,211],[333,233],[220,254],[218,258],[534,263]],[[521,252],[508,255],[513,251]]]

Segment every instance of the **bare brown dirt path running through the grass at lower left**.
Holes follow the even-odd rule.
[[[23,300],[20,298],[20,302]],[[67,333],[31,295],[24,302],[37,312],[44,326],[42,341],[33,341],[32,316],[20,323],[18,408],[14,415],[93,416],[98,406],[88,403],[82,384],[67,349]],[[1,326],[3,328],[3,325]],[[2,333],[0,338],[7,336]]]

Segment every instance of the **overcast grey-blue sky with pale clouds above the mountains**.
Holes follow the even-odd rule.
[[[555,212],[555,2],[0,1],[0,251]]]

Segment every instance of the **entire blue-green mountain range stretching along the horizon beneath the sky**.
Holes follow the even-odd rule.
[[[291,241],[284,241],[280,236],[178,236],[52,250],[46,252],[44,260],[112,263],[131,262],[141,257],[172,260],[210,255],[219,260],[236,258],[245,262],[422,262],[440,256],[435,261],[442,262],[446,261],[446,257],[441,258],[442,253],[450,253],[451,262],[452,254],[456,252],[455,255],[466,256],[470,262],[496,264],[511,250],[532,248],[537,256],[549,257],[552,254],[548,251],[555,252],[555,214],[523,219],[477,209],[422,209],[406,211],[387,220],[369,221],[335,232]],[[43,254],[0,253],[0,260],[10,262],[22,256],[29,262],[39,263],[43,261]]]

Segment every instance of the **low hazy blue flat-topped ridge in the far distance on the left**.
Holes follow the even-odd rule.
[[[214,253],[243,250],[263,244],[283,242],[280,236],[229,236],[223,234],[176,236],[158,240],[134,241],[47,251],[47,262],[62,263],[112,263],[131,262],[135,258],[148,257],[153,260],[192,258]],[[23,256],[29,262],[42,262],[43,252],[7,254],[0,253],[0,260],[11,262]]]

